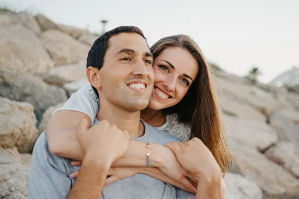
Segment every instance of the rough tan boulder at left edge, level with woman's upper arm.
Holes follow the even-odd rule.
[[[30,152],[38,135],[33,106],[0,97],[0,147]]]

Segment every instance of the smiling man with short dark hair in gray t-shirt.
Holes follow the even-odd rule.
[[[137,150],[150,148],[149,142],[180,141],[140,120],[153,88],[152,61],[137,27],[118,27],[95,41],[87,58],[87,78],[100,98],[94,125],[101,132],[78,130],[85,156],[76,181],[70,174],[80,167],[51,153],[46,132],[42,133],[32,154],[28,199],[194,199],[192,193],[143,174],[104,187],[108,170],[128,147],[129,136],[148,143]]]

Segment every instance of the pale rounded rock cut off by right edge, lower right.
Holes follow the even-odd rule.
[[[299,147],[291,142],[278,142],[265,152],[273,162],[286,168],[291,174],[299,179]]]

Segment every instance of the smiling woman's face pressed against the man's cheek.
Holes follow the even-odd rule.
[[[149,107],[164,109],[183,99],[198,73],[191,53],[182,48],[166,48],[153,61],[154,88]]]

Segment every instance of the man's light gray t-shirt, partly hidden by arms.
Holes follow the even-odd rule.
[[[145,123],[145,134],[131,138],[164,145],[178,138]],[[138,150],[138,149],[137,149]],[[146,158],[146,157],[145,157]],[[69,175],[80,169],[72,160],[49,151],[46,132],[35,143],[32,153],[28,199],[65,199],[75,179]],[[195,195],[147,175],[137,174],[104,187],[101,199],[194,199]]]

